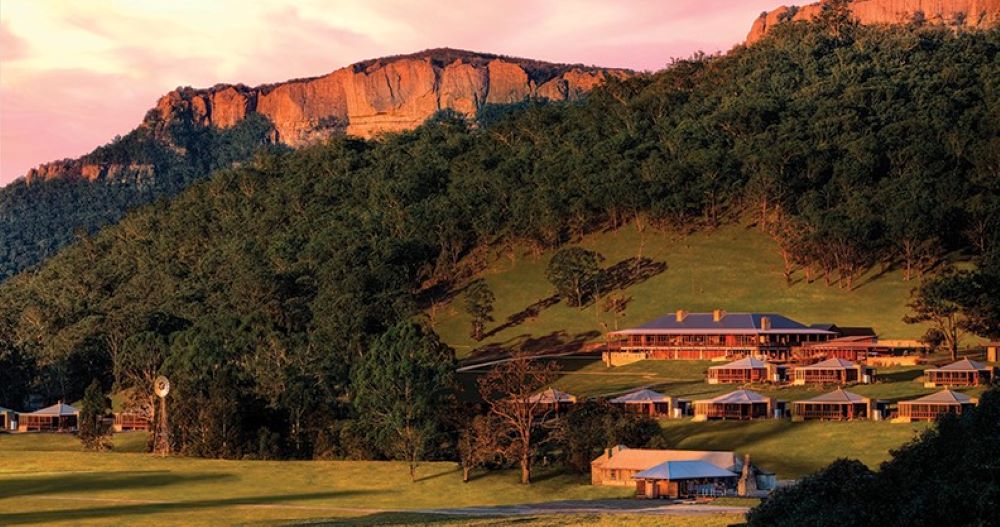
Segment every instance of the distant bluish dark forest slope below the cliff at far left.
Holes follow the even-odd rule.
[[[95,181],[22,178],[0,188],[0,281],[56,254],[78,235],[93,234],[135,207],[249,158],[272,129],[256,114],[225,130],[151,117],[155,112],[143,126],[80,158],[82,164],[118,167],[113,173]]]

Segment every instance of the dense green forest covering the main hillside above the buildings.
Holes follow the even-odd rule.
[[[0,285],[0,405],[75,400],[93,379],[146,394],[163,373],[184,452],[392,456],[358,446],[351,375],[396,352],[383,333],[460,287],[477,249],[628,223],[746,221],[830,287],[872,268],[917,283],[955,254],[996,283],[998,49],[997,30],[832,13],[579,103],[258,153]],[[454,360],[394,331],[428,350],[396,366],[433,378],[427,357]]]

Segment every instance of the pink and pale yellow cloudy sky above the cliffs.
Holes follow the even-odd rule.
[[[781,0],[0,0],[0,185],[124,135],[178,86],[451,47],[656,70]]]

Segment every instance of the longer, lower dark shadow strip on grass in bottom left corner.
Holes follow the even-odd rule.
[[[48,524],[54,522],[72,523],[103,518],[107,518],[111,523],[117,523],[114,522],[116,518],[127,516],[143,516],[170,512],[195,512],[198,510],[234,506],[271,505],[289,501],[339,498],[343,496],[354,496],[367,493],[367,491],[311,492],[304,494],[285,494],[280,496],[251,496],[214,500],[130,503],[126,505],[102,505],[98,507],[79,509],[15,512],[0,514],[0,525],[30,525]]]

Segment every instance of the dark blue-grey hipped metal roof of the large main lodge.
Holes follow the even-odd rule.
[[[655,320],[613,333],[629,334],[757,334],[757,333],[808,333],[835,335],[825,329],[811,328],[777,313],[724,313],[716,322],[712,313],[688,313],[681,321],[671,313]],[[770,321],[771,329],[762,329],[761,319]]]

